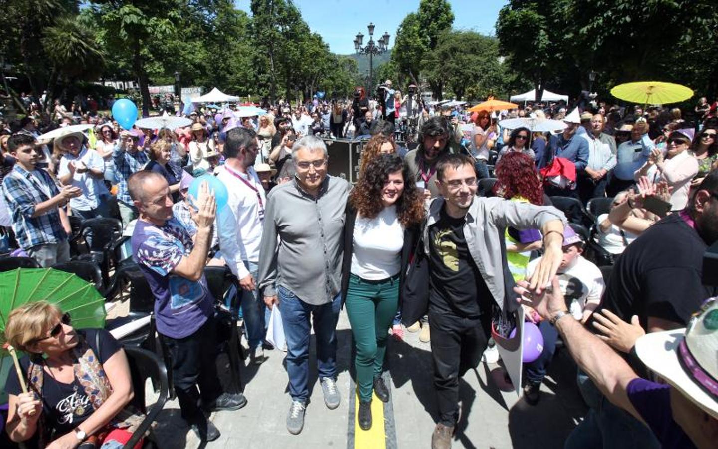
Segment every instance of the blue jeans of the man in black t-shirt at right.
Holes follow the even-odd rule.
[[[564,449],[658,449],[656,435],[643,422],[606,399],[580,369],[578,384],[589,404],[588,415],[564,443]]]

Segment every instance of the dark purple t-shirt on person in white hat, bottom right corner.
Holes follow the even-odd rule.
[[[683,428],[673,420],[670,386],[638,377],[628,382],[626,393],[640,417],[661,442],[661,448],[696,447]]]

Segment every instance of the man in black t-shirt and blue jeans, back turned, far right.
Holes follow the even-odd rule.
[[[630,194],[629,205],[643,208],[645,197],[651,194]],[[715,287],[701,282],[704,253],[716,241],[718,170],[712,170],[693,191],[684,210],[653,224],[626,247],[616,261],[597,312],[609,310],[628,323],[638,317],[646,333],[685,327],[701,303],[716,294]],[[595,320],[593,326],[599,327],[597,324]],[[647,374],[635,354],[627,358],[634,371]],[[569,436],[567,448],[584,448],[587,440],[604,448],[659,447],[643,423],[611,404],[581,370],[578,380],[591,409]]]

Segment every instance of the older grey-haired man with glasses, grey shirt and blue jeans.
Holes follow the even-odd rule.
[[[342,230],[349,184],[327,175],[327,147],[304,136],[292,147],[294,180],[267,198],[259,254],[259,290],[267,307],[279,305],[286,335],[286,371],[292,405],[290,433],[302,432],[309,399],[309,334],[314,315],[319,371],[325,404],[335,409],[340,394],[335,328],[341,305]],[[279,239],[277,239],[279,237]]]

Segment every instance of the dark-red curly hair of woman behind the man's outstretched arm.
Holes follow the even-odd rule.
[[[508,152],[496,165],[495,173],[495,195],[507,200],[522,196],[531,204],[544,204],[544,188],[536,176],[536,165],[531,157],[521,152]]]

